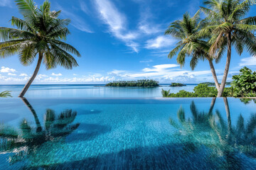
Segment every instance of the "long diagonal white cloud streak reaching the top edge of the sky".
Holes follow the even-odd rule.
[[[120,13],[109,0],[95,0],[95,6],[100,13],[100,18],[109,26],[110,33],[114,37],[125,42],[134,52],[138,52],[138,44],[133,40],[138,37],[138,33],[127,30],[127,18]]]

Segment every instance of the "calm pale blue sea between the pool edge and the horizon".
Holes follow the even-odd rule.
[[[27,98],[151,98],[161,97],[161,89],[176,93],[180,90],[193,91],[196,85],[169,87],[161,85],[154,88],[107,87],[104,85],[33,85],[26,93]],[[18,96],[23,85],[0,85],[1,91],[11,91]]]

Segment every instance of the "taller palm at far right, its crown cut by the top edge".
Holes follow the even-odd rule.
[[[252,56],[256,55],[256,16],[244,18],[250,11],[250,6],[255,3],[255,0],[207,0],[204,1],[206,7],[201,7],[211,21],[199,33],[202,36],[213,35],[209,54],[223,53],[223,49],[228,49],[218,97],[222,96],[228,77],[232,45],[239,55],[244,48],[247,48]]]

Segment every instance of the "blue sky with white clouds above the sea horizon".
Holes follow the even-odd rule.
[[[36,4],[42,4],[36,0]],[[60,18],[70,18],[67,42],[76,47],[82,57],[79,67],[72,70],[41,67],[34,84],[105,84],[109,81],[156,79],[160,83],[199,83],[213,81],[208,62],[200,62],[194,71],[190,58],[181,68],[176,57],[167,55],[176,40],[164,35],[169,23],[181,19],[188,11],[193,15],[201,5],[198,0],[51,0],[52,10],[61,10]],[[249,15],[256,16],[255,6]],[[22,18],[12,0],[0,0],[0,26],[11,27],[11,16]],[[233,51],[230,75],[247,66],[255,71],[256,57]],[[18,56],[0,59],[0,84],[25,84],[36,62],[23,67]],[[222,79],[225,56],[215,64],[218,79]]]

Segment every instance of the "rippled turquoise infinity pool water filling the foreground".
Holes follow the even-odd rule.
[[[0,169],[256,169],[235,98],[0,99]]]

